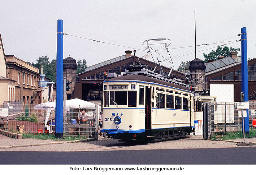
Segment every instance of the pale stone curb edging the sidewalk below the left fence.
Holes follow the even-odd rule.
[[[81,139],[76,141],[64,141],[64,142],[49,142],[49,143],[32,143],[32,144],[19,144],[19,145],[7,145],[7,146],[0,146],[1,148],[18,148],[18,147],[31,147],[31,146],[42,146],[42,145],[50,145],[50,144],[62,144],[62,143],[78,143],[78,142],[88,142],[88,141],[95,141],[96,138],[92,139]]]

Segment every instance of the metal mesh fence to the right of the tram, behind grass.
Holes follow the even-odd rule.
[[[204,103],[204,138],[211,138],[216,133],[237,132],[242,130],[242,118],[234,103]],[[256,118],[256,101],[249,101],[249,127]]]

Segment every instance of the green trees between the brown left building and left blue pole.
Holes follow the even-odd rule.
[[[52,59],[51,63],[49,61],[49,57],[47,55],[38,57],[36,59],[37,63],[30,63],[27,61],[28,64],[35,66],[39,70],[41,70],[41,65],[43,66],[43,74],[46,77],[50,78],[52,81],[56,81],[56,59]]]

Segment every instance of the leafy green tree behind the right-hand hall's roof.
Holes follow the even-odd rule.
[[[218,56],[230,56],[230,52],[239,51],[240,48],[233,48],[233,47],[227,47],[224,46],[223,48],[221,46],[218,46],[217,49],[214,51],[212,50],[208,55],[203,53],[204,55],[204,63],[208,63],[208,60],[218,60]]]

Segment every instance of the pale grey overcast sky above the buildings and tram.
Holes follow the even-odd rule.
[[[197,45],[239,40],[241,37],[237,35],[241,33],[241,28],[247,27],[247,55],[248,58],[256,57],[253,52],[256,49],[255,6],[255,0],[0,0],[0,32],[5,54],[31,62],[44,55],[50,61],[56,59],[58,19],[64,20],[64,33],[127,46],[64,35],[64,58],[70,55],[75,60],[86,59],[88,66],[124,55],[125,50],[133,51],[134,48],[137,50],[135,55],[142,56],[147,53],[141,51],[145,49],[142,45],[144,40],[169,38],[172,43],[168,49],[173,57],[174,69],[177,69],[181,61],[195,59],[195,54],[190,54],[195,48],[186,47],[195,44],[194,10]],[[196,57],[204,60],[203,52],[208,54],[216,49],[209,48],[222,44],[198,46]],[[241,42],[227,46],[240,48]],[[185,48],[173,49],[177,47]],[[168,58],[165,50],[158,52]],[[189,55],[182,56],[185,54]],[[241,55],[240,51],[238,55]],[[152,57],[149,60],[153,61]],[[164,58],[160,56],[159,60]],[[167,61],[162,63],[170,66]]]

